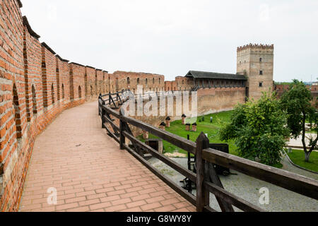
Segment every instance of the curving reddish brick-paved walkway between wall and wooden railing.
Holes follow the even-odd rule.
[[[98,103],[61,113],[37,137],[20,211],[194,211],[101,129]],[[47,189],[57,189],[57,205]]]

